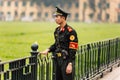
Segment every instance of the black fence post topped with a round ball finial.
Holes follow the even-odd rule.
[[[32,75],[32,79],[33,80],[37,80],[37,68],[38,68],[38,62],[37,62],[37,55],[38,55],[38,44],[34,43],[32,44],[31,46],[31,49],[32,51],[30,52],[31,53],[31,56],[34,56],[35,58],[32,58],[32,62],[35,63],[35,65],[32,65],[31,66],[31,75]]]

